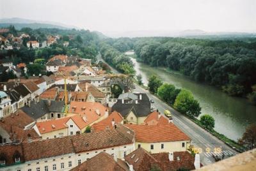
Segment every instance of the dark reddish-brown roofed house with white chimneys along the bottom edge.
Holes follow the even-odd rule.
[[[124,159],[136,171],[152,170],[153,168],[163,171],[195,170],[195,168],[200,168],[199,154],[193,157],[188,151],[150,154],[140,147],[125,156]]]

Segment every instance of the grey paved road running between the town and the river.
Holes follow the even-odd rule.
[[[100,56],[98,57],[98,60],[104,61]],[[114,73],[118,73],[114,68],[111,66],[109,67]],[[173,116],[173,123],[191,138],[191,144],[200,152],[200,161],[203,165],[209,165],[215,162],[212,158],[212,154],[221,157],[224,153],[225,158],[227,158],[230,155],[238,153],[218,138],[212,136],[211,133],[208,133],[204,129],[200,128],[200,126],[193,123],[193,121],[190,121],[187,117],[166,105],[166,103],[159,100],[159,98],[156,98],[156,96],[153,96],[147,90],[141,88],[139,85],[135,85],[134,92],[147,93],[148,98],[150,100],[154,100],[152,106],[157,108],[159,112],[163,113],[166,109],[170,110]],[[220,148],[221,151],[218,151],[218,148]]]

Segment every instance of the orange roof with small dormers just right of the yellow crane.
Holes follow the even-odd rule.
[[[92,125],[108,117],[108,108],[98,102],[71,101],[68,113],[85,116]]]

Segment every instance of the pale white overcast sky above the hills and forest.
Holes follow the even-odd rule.
[[[0,18],[11,17],[102,32],[256,32],[256,0],[0,0]]]

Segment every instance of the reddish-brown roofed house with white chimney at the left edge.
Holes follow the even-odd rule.
[[[4,117],[0,122],[0,144],[38,140],[34,124],[33,119],[21,110]]]

